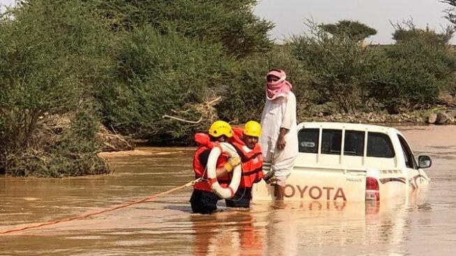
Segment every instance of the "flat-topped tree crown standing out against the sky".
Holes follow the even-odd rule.
[[[362,41],[377,34],[372,27],[352,20],[340,20],[335,24],[320,24],[318,27],[333,36],[348,37],[355,41]]]

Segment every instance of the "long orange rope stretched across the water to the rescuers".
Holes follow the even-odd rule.
[[[96,211],[94,213],[87,213],[87,214],[84,214],[84,215],[78,215],[78,216],[74,216],[74,217],[70,217],[70,218],[64,218],[64,219],[60,219],[60,220],[51,220],[49,222],[37,223],[37,224],[34,224],[34,225],[29,225],[29,226],[22,227],[22,228],[17,228],[17,229],[0,230],[0,235],[13,233],[13,232],[20,232],[20,231],[24,231],[24,230],[27,230],[27,229],[36,229],[38,227],[54,225],[54,224],[61,223],[61,222],[69,222],[71,220],[82,220],[82,219],[88,218],[90,216],[100,215],[101,213],[108,213],[110,211],[116,211],[116,210],[119,210],[119,209],[122,209],[122,208],[126,208],[128,206],[132,206],[134,204],[144,203],[145,201],[149,201],[149,200],[155,199],[156,197],[160,197],[160,196],[163,196],[165,194],[170,194],[171,192],[175,192],[177,190],[181,190],[184,187],[190,187],[191,185],[197,183],[198,181],[200,181],[200,179],[190,181],[189,183],[186,183],[186,184],[184,184],[182,186],[175,187],[175,188],[173,188],[171,190],[168,190],[168,191],[165,191],[165,192],[161,192],[159,194],[152,194],[149,197],[145,197],[143,199],[139,199],[139,200],[136,200],[136,201],[131,201],[129,203],[121,204],[119,206],[113,206],[111,208],[106,208],[104,210]]]

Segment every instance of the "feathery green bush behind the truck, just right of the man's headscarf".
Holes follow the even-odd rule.
[[[354,113],[365,101],[367,74],[376,63],[374,51],[348,36],[329,36],[311,23],[313,36],[290,41],[293,55],[311,74],[310,86],[323,101],[333,101],[345,113]]]

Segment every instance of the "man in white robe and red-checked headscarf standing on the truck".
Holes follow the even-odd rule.
[[[261,116],[263,132],[259,141],[265,167],[270,164],[265,180],[267,183],[277,181],[276,199],[283,200],[286,178],[298,152],[296,97],[284,71],[272,69],[266,78],[266,103]]]

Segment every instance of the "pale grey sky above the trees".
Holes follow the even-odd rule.
[[[0,6],[9,6],[15,0],[0,0]],[[449,23],[443,17],[448,8],[439,0],[259,0],[254,13],[270,20],[276,27],[270,37],[277,43],[293,34],[307,31],[304,21],[334,23],[339,20],[358,20],[377,30],[368,38],[372,43],[393,43],[390,22],[413,19],[417,27],[442,31]],[[456,38],[452,40],[456,44]]]

